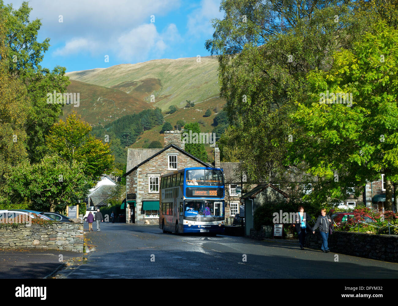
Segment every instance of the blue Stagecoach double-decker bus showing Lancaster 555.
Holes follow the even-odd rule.
[[[164,233],[223,233],[222,170],[193,167],[162,175],[159,205],[159,228]]]

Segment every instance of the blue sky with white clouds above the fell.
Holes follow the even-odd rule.
[[[22,0],[4,3],[15,9]],[[29,6],[30,20],[42,22],[38,40],[51,39],[42,67],[67,72],[207,56],[210,20],[224,16],[220,0],[31,0]]]

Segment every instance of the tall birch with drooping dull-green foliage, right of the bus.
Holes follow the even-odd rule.
[[[285,158],[294,101],[308,72],[327,70],[332,53],[362,35],[365,19],[357,18],[352,6],[328,0],[310,6],[298,1],[221,2],[224,19],[213,20],[215,31],[206,48],[219,55],[220,96],[234,126],[227,145],[242,147],[240,159],[250,179],[289,179]]]

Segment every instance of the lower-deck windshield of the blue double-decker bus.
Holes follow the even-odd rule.
[[[188,218],[220,218],[223,216],[223,205],[220,200],[185,200],[184,216]]]

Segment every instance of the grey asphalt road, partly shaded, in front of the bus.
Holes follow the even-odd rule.
[[[93,228],[87,234],[96,247],[86,255],[86,263],[62,270],[57,278],[396,279],[398,275],[396,263],[302,251],[297,241],[164,234],[154,225],[103,222],[100,232],[95,224]]]

